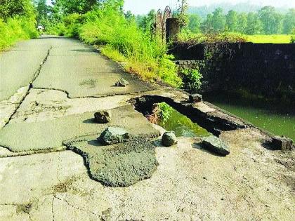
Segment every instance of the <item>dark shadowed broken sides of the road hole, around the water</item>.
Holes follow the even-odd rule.
[[[247,125],[230,121],[229,119],[215,116],[211,112],[202,112],[202,110],[194,107],[194,104],[188,101],[178,102],[173,98],[166,98],[159,95],[144,95],[140,98],[131,98],[131,103],[136,111],[142,113],[144,116],[150,116],[155,114],[155,105],[159,103],[166,103],[171,106],[177,112],[187,116],[193,123],[197,123],[197,126],[201,127],[201,133],[196,133],[199,136],[206,136],[209,133],[219,136],[222,131],[237,130],[241,128],[247,128]],[[216,112],[220,112],[216,110]],[[225,114],[224,114],[225,115]],[[177,119],[175,119],[176,121]],[[161,126],[161,125],[160,125]],[[208,132],[208,133],[206,133]]]

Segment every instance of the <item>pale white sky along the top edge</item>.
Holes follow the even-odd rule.
[[[188,4],[190,6],[204,6],[215,3],[231,3],[237,4],[240,2],[249,2],[251,4],[256,4],[259,6],[287,6],[289,8],[295,8],[295,0],[188,0]],[[130,10],[134,14],[146,14],[151,9],[159,9],[162,8],[164,10],[165,6],[172,6],[175,8],[177,4],[177,0],[125,0],[125,10]]]

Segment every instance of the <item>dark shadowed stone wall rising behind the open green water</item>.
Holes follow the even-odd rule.
[[[242,88],[266,97],[287,96],[295,102],[295,44],[242,43],[229,48],[230,58],[221,52],[211,60],[181,60],[178,56],[176,65],[199,69],[203,92]]]

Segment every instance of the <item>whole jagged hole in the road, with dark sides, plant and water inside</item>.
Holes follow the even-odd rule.
[[[212,116],[194,107],[188,101],[179,102],[173,98],[158,95],[144,95],[140,98],[129,100],[136,111],[142,113],[150,122],[162,126],[166,130],[174,130],[178,136],[219,136],[222,131],[245,128],[235,122],[228,121],[218,116]],[[159,106],[170,109],[169,117],[161,113]],[[164,117],[161,116],[164,114]]]

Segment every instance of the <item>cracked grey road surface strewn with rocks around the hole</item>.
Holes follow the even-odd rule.
[[[116,147],[111,159],[112,149],[95,141],[105,127],[123,126],[145,139],[164,133],[127,101],[187,95],[125,74],[74,39],[23,41],[0,59],[0,220],[295,220],[295,154],[265,149],[260,130],[221,133],[230,146],[226,158],[200,148],[199,138],[148,149],[157,166],[148,179],[107,187],[91,179],[97,168],[122,182],[118,167],[128,161],[125,173],[133,173],[133,157],[145,152],[125,155]],[[114,87],[122,76],[130,85]],[[113,121],[94,124],[93,112],[103,109]],[[139,176],[143,162],[136,159]]]

